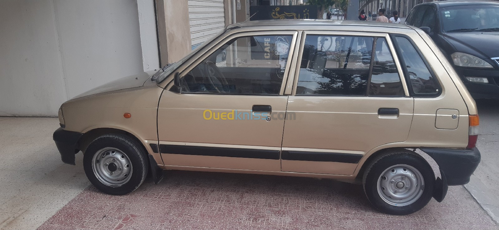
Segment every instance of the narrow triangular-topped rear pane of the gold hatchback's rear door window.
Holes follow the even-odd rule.
[[[376,52],[369,86],[372,96],[403,96],[404,88],[385,38],[376,40]]]

